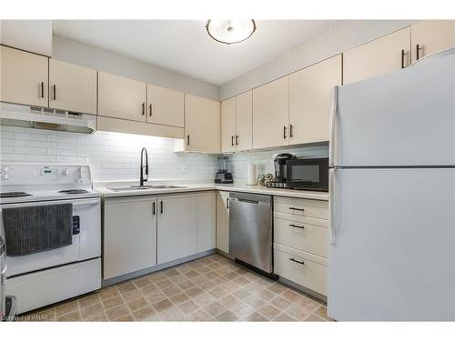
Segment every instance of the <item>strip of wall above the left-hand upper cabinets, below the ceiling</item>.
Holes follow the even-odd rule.
[[[175,89],[187,94],[218,99],[217,85],[140,62],[125,55],[117,55],[101,48],[82,44],[59,35],[53,35],[52,57],[68,63]],[[182,57],[182,63],[183,60],[184,58]]]

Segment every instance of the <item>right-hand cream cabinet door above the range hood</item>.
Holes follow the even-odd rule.
[[[96,115],[96,70],[49,59],[49,106]]]

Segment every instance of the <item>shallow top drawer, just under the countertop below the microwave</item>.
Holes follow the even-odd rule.
[[[327,201],[275,196],[273,206],[276,212],[329,219],[329,202]]]

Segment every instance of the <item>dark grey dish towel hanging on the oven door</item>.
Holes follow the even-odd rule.
[[[6,256],[25,256],[73,244],[73,204],[2,210]]]

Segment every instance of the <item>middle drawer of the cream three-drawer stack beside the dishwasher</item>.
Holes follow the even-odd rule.
[[[284,213],[275,214],[275,243],[327,257],[327,220],[293,217]]]

